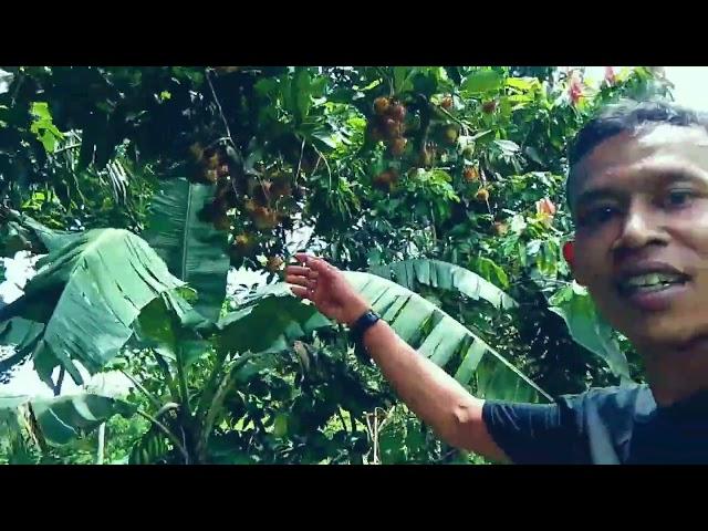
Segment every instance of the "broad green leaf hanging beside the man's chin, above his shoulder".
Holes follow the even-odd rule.
[[[614,340],[612,327],[597,314],[587,293],[566,289],[551,299],[551,303],[556,305],[550,310],[565,321],[571,336],[579,344],[604,360],[615,375],[629,379],[627,358]]]

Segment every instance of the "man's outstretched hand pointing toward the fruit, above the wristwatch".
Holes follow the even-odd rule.
[[[285,269],[285,282],[292,292],[311,300],[330,319],[352,325],[368,310],[368,304],[346,281],[340,270],[320,258],[295,254],[302,266]]]

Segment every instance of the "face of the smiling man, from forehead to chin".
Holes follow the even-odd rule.
[[[574,168],[573,272],[638,347],[708,334],[708,134],[646,126]]]

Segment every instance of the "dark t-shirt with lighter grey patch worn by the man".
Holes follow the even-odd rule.
[[[514,464],[708,464],[708,391],[670,407],[646,385],[550,405],[487,400],[482,418]]]

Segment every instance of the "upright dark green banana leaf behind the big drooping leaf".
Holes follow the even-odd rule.
[[[184,177],[163,181],[144,235],[169,271],[197,290],[195,309],[211,321],[219,319],[230,263],[226,232],[199,218],[215,189],[215,185],[192,184]]]

